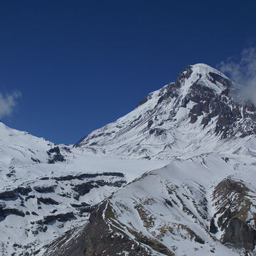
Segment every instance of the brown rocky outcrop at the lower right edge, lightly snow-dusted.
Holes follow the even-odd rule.
[[[223,231],[221,241],[246,250],[253,250],[256,245],[256,227],[252,225],[256,214],[251,210],[255,205],[251,200],[252,191],[242,181],[225,178],[213,191],[213,198],[218,211],[218,227]],[[220,203],[221,202],[221,203]]]

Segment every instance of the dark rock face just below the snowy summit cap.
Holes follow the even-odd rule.
[[[161,96],[159,103],[169,97],[178,97],[178,91],[185,80],[190,78],[193,73],[192,67],[188,66],[178,75],[175,83],[170,84],[167,87],[166,93]],[[251,122],[252,127],[250,129],[244,129],[245,124],[238,124],[237,121],[241,119],[248,119],[256,121],[255,105],[247,102],[244,106],[235,102],[230,96],[229,91],[232,87],[232,81],[225,78],[218,73],[209,72],[207,79],[209,82],[218,87],[223,86],[223,90],[220,94],[215,92],[214,87],[208,87],[206,81],[201,80],[200,74],[198,74],[198,80],[194,81],[188,90],[188,93],[183,97],[181,107],[187,107],[189,102],[193,102],[193,107],[188,113],[188,117],[191,117],[191,123],[195,123],[198,117],[203,116],[201,124],[205,128],[211,119],[217,117],[217,123],[215,126],[216,134],[221,134],[223,139],[227,137],[233,137],[236,132],[240,132],[241,137],[245,137],[250,134],[256,134],[256,125]],[[195,104],[196,103],[196,104]],[[239,127],[238,127],[239,125]]]

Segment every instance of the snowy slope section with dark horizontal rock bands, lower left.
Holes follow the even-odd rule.
[[[68,229],[82,225],[95,210],[97,203],[125,183],[127,181],[124,174],[119,172],[80,173],[38,177],[36,181],[29,182],[29,186],[1,191],[1,227],[11,225],[10,219],[14,218],[22,218],[18,223],[25,223],[26,227],[21,230],[21,233],[24,233],[24,242],[13,246],[14,255],[38,255],[40,250],[34,249],[38,238],[44,237],[45,234],[46,239],[50,235],[52,238],[56,234],[60,236]],[[14,228],[11,227],[11,230]],[[28,236],[32,241],[34,239],[33,243],[28,244]],[[12,246],[11,240],[8,245]]]

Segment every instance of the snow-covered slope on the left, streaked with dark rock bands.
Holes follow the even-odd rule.
[[[1,255],[32,255],[86,223],[97,203],[114,191],[167,163],[90,156],[2,123],[0,136]],[[48,154],[56,148],[60,153]],[[64,161],[49,164],[56,155]]]

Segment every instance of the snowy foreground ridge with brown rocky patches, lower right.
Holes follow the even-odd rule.
[[[43,255],[255,255],[255,156],[228,156],[176,159],[147,172],[104,201],[89,225],[74,230],[75,239],[64,236]],[[222,197],[216,190],[227,181],[232,186]],[[240,240],[223,229],[235,220]]]

